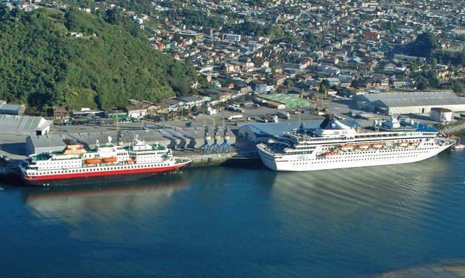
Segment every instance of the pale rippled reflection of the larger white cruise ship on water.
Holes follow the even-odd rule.
[[[432,185],[447,180],[448,156],[389,166],[278,173],[271,191],[286,210],[310,217],[336,220],[354,212],[408,210],[431,198]]]

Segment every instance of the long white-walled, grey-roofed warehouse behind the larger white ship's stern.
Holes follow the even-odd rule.
[[[465,98],[452,91],[377,92],[354,97],[357,106],[369,112],[388,114],[424,114],[431,108],[465,111]]]

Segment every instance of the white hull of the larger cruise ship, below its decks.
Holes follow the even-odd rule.
[[[313,171],[338,168],[357,168],[382,166],[401,163],[413,163],[436,156],[451,145],[426,148],[371,149],[362,152],[342,152],[334,156],[281,156],[274,157],[259,147],[260,159],[267,168],[276,171]]]

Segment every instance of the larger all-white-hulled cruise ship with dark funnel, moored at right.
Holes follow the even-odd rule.
[[[454,143],[431,126],[401,124],[395,117],[366,129],[327,117],[316,129],[283,133],[257,150],[271,170],[310,171],[422,161]]]

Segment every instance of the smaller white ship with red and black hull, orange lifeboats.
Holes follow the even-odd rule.
[[[94,149],[84,149],[71,140],[66,141],[62,152],[31,154],[20,163],[20,173],[26,185],[79,184],[82,179],[99,177],[108,181],[111,177],[125,180],[143,175],[176,172],[189,166],[191,158],[175,157],[171,149],[155,144],[148,145],[135,136],[128,146],[100,144]]]

